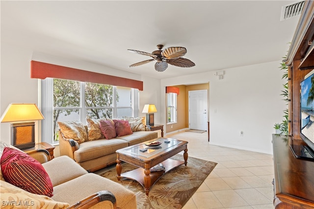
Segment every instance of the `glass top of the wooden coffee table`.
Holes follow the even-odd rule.
[[[134,146],[128,149],[125,149],[126,152],[129,152],[130,154],[139,155],[142,157],[150,157],[152,155],[155,155],[159,152],[162,152],[166,149],[171,148],[172,146],[175,146],[177,144],[182,143],[183,141],[175,140],[175,139],[169,139],[169,138],[160,138],[156,139],[152,142],[160,142],[160,145],[158,146],[147,146],[145,144],[141,144],[138,146]],[[150,143],[152,143],[150,142]]]

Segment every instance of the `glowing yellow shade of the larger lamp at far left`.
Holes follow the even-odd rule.
[[[0,118],[3,122],[20,122],[31,120],[42,120],[44,116],[36,104],[32,103],[11,103]]]

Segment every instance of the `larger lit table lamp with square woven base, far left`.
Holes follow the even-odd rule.
[[[0,122],[11,122],[11,144],[19,149],[35,146],[35,122],[44,116],[36,104],[11,103],[4,111]]]

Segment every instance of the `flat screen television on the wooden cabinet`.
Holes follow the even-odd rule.
[[[300,85],[300,128],[306,146],[301,146],[298,157],[314,159],[314,70],[304,77]]]

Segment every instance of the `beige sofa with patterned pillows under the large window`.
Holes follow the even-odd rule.
[[[59,131],[60,155],[69,156],[85,170],[93,172],[116,163],[116,150],[158,137],[157,132],[148,131],[149,128],[145,126],[145,117],[125,117],[124,119],[129,121],[132,134],[104,139],[104,136],[100,135],[99,121],[87,118],[87,126],[84,128],[76,127],[80,129],[76,133],[80,132],[80,135],[87,135],[87,140],[83,142],[79,141],[80,137],[77,140],[71,139],[69,135],[65,137],[64,132],[68,132],[69,127],[67,126],[68,129],[63,128],[62,130],[64,124],[59,124],[59,126],[61,125]],[[82,124],[80,125],[82,126]],[[72,127],[72,129],[74,128]],[[95,137],[95,135],[99,135],[99,137]]]

